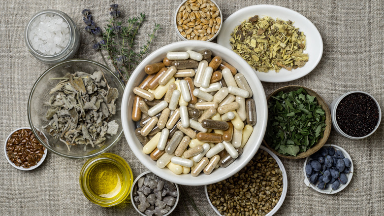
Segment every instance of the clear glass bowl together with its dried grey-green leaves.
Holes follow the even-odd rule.
[[[48,150],[67,158],[89,158],[123,135],[124,85],[105,66],[84,59],[61,62],[34,83],[28,99],[33,134]]]

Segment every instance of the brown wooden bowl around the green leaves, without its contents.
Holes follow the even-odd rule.
[[[272,96],[275,96],[277,93],[279,93],[281,91],[283,91],[284,93],[288,93],[288,92],[291,92],[291,91],[295,91],[295,90],[297,90],[299,88],[305,89],[305,91],[307,91],[307,93],[309,95],[311,95],[313,97],[316,97],[316,99],[318,101],[318,104],[321,105],[322,109],[324,109],[324,111],[325,111],[325,124],[326,124],[325,130],[324,130],[324,134],[323,134],[323,137],[321,139],[319,139],[317,144],[313,145],[310,149],[307,149],[307,151],[301,152],[301,153],[297,154],[296,157],[295,156],[288,156],[288,155],[280,154],[274,148],[270,147],[267,144],[267,142],[265,142],[265,139],[263,139],[263,144],[265,146],[267,146],[267,148],[269,148],[271,151],[273,151],[273,153],[277,154],[280,157],[291,158],[291,159],[300,159],[300,158],[308,157],[309,155],[311,155],[311,154],[315,153],[316,151],[318,151],[325,144],[325,142],[328,140],[329,134],[331,132],[332,121],[331,121],[331,112],[330,112],[330,110],[328,108],[328,105],[324,102],[324,100],[320,97],[320,95],[318,95],[312,89],[306,88],[304,86],[297,86],[297,85],[289,85],[289,86],[281,87],[281,88],[275,90],[274,92],[272,92],[267,97],[267,101],[269,101],[269,99]]]

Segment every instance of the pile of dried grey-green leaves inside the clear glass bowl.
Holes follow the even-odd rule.
[[[110,88],[101,71],[89,74],[66,73],[50,94],[45,115],[49,123],[43,127],[54,139],[67,145],[91,144],[101,147],[107,134],[115,135],[119,129],[116,120],[109,118],[116,114],[116,99],[119,92]],[[104,89],[108,87],[108,89]]]

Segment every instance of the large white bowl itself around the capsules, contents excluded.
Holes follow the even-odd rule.
[[[143,153],[143,145],[135,136],[136,122],[132,120],[132,105],[133,105],[133,88],[138,86],[144,77],[147,75],[144,72],[146,65],[162,62],[168,52],[172,51],[201,51],[210,49],[212,56],[220,56],[225,62],[232,65],[241,72],[253,91],[253,99],[256,102],[257,123],[253,126],[253,132],[248,139],[248,143],[243,148],[243,153],[228,167],[214,170],[210,175],[200,173],[197,177],[192,177],[191,174],[176,175],[167,168],[159,168],[156,161],[152,160],[149,155]],[[127,139],[130,149],[133,151],[139,161],[152,171],[157,176],[164,180],[169,180],[174,183],[183,185],[206,185],[216,183],[218,181],[229,178],[230,176],[241,170],[253,158],[259,148],[265,134],[267,125],[267,101],[263,86],[253,69],[236,53],[218,45],[207,41],[180,41],[161,47],[145,58],[130,76],[123,95],[122,102],[122,123],[124,135]],[[224,172],[223,172],[224,171]]]

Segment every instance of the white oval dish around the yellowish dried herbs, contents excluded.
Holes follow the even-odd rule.
[[[291,72],[286,69],[281,69],[280,72],[269,71],[269,72],[258,72],[254,70],[261,81],[264,82],[287,82],[301,78],[316,68],[319,64],[322,53],[323,43],[319,30],[316,26],[305,16],[300,13],[288,9],[286,7],[259,4],[249,7],[244,7],[225,19],[223,23],[223,30],[218,36],[217,43],[231,49],[229,43],[230,34],[233,29],[240,25],[244,20],[259,13],[259,17],[270,16],[273,19],[281,18],[283,20],[291,20],[294,22],[294,26],[299,28],[301,32],[307,36],[307,48],[304,53],[310,54],[309,61],[302,68],[297,68]],[[314,56],[311,58],[311,55]]]

